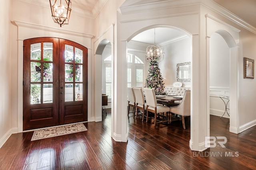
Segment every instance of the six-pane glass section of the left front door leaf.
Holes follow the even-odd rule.
[[[30,104],[41,104],[41,101],[52,102],[52,84],[45,84],[53,82],[52,56],[52,42],[30,45],[30,83],[33,83],[30,85]]]

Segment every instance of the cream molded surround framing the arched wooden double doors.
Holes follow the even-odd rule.
[[[21,133],[23,132],[23,40],[24,39],[30,39],[35,38],[40,35],[41,37],[56,37],[56,38],[62,38],[67,39],[70,41],[74,41],[78,44],[83,45],[84,47],[88,48],[88,121],[94,121],[94,113],[92,111],[94,110],[94,98],[92,95],[92,89],[93,89],[93,81],[92,74],[93,70],[91,68],[93,60],[91,59],[92,56],[92,38],[94,35],[70,31],[66,29],[60,29],[60,28],[54,28],[54,27],[47,27],[22,21],[13,21],[12,22],[17,27],[17,34],[13,35],[15,41],[13,41],[13,44],[17,45],[17,51],[13,51],[13,55],[17,55],[18,60],[18,68],[17,68],[17,79],[14,80],[14,84],[16,84],[14,89],[17,89],[16,92],[14,92],[15,100],[13,100],[14,107],[12,114],[14,117],[13,123],[14,126],[10,131],[10,134],[12,133]],[[16,37],[15,37],[16,36]],[[15,118],[17,117],[17,119]],[[18,127],[15,124],[18,124]]]

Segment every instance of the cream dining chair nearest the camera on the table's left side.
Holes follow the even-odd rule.
[[[154,92],[154,89],[152,88],[144,88],[146,103],[147,103],[147,119],[146,122],[148,122],[148,114],[149,112],[154,113],[154,126],[156,126],[156,123],[164,122],[157,120],[157,116],[159,116],[159,113],[166,113],[166,116],[170,112],[170,107],[158,105],[156,103],[156,94]],[[166,120],[167,121],[167,120]]]

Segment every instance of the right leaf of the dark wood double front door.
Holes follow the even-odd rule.
[[[60,39],[60,49],[60,124],[87,121],[87,48]]]

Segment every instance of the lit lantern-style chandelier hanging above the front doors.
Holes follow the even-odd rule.
[[[53,5],[51,0],[50,6],[52,10],[52,19],[55,23],[58,23],[60,27],[62,25],[68,24],[71,12],[71,0],[55,0]],[[57,1],[60,1],[57,3]],[[62,3],[61,1],[64,1]]]

